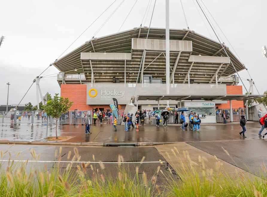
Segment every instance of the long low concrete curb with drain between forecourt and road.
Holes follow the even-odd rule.
[[[135,145],[141,146],[154,146],[160,144],[174,144],[179,142],[136,142],[136,143],[116,143],[116,142],[50,142],[50,141],[0,141],[0,144],[28,144],[28,145],[56,145],[56,146],[117,146],[117,145]]]

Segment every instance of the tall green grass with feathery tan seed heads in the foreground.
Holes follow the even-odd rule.
[[[61,151],[61,147],[56,150],[55,161],[61,161]],[[200,156],[198,161],[192,161],[187,152],[180,155],[175,148],[172,154],[180,163],[171,165],[179,167],[166,171],[159,166],[148,177],[139,170],[142,164],[133,172],[123,164],[120,155],[116,171],[106,174],[106,166],[101,161],[76,163],[81,160],[77,148],[69,152],[68,164],[57,162],[53,167],[44,164],[41,168],[28,160],[14,162],[8,150],[1,151],[1,160],[10,159],[0,161],[0,196],[267,196],[264,165],[258,177],[241,170],[229,174],[216,157],[213,159],[217,162],[211,168],[206,165],[209,161]],[[33,149],[31,156],[36,161],[40,157]]]

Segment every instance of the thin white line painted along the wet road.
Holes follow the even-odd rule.
[[[14,162],[26,162],[27,160],[0,160],[0,161],[14,161]],[[39,162],[39,163],[87,163],[88,161],[34,161],[34,160],[28,160],[28,162]],[[119,162],[96,162],[96,161],[90,161],[90,164],[118,164]],[[165,163],[165,161],[143,161],[143,162],[120,162],[121,164],[148,164],[148,163]]]

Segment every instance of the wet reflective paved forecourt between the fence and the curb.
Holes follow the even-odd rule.
[[[258,131],[260,124],[258,122],[247,122],[247,138],[239,135],[241,127],[239,122],[201,124],[200,133],[193,133],[189,130],[181,130],[180,124],[168,124],[168,127],[156,127],[154,120],[145,121],[144,126],[139,126],[139,131],[131,128],[128,132],[124,131],[124,126],[117,125],[117,131],[114,131],[113,125],[104,120],[103,124],[97,122],[96,125],[90,125],[92,134],[85,134],[85,126],[77,125],[58,125],[58,136],[71,136],[66,142],[191,142],[191,141],[228,141],[228,140],[251,140],[259,139]],[[263,132],[264,133],[264,132]],[[55,125],[48,127],[48,135],[55,136]],[[20,125],[0,125],[1,141],[40,141],[46,137],[45,124],[20,124]]]

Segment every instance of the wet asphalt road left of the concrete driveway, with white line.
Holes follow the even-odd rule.
[[[0,144],[0,151],[2,150],[3,153],[8,150],[11,145],[7,144]],[[55,151],[59,153],[60,147],[59,146],[40,146],[40,145],[13,145],[9,148],[8,152],[11,155],[11,160],[34,160],[31,156],[31,149],[34,149],[36,155],[40,153],[39,162],[29,162],[28,163],[28,170],[31,167],[37,167],[39,169],[44,168],[44,164],[47,165],[48,169],[54,167],[54,162],[50,161],[57,161],[55,158]],[[161,156],[157,149],[154,147],[77,147],[79,155],[81,156],[81,160],[84,163],[88,161],[93,162],[93,155],[95,157],[95,162],[115,162],[115,163],[104,163],[105,169],[104,173],[107,176],[116,177],[118,175],[118,156],[122,155],[125,162],[130,162],[127,164],[123,164],[125,168],[129,171],[131,176],[136,174],[136,166],[139,166],[139,176],[142,176],[142,173],[145,172],[148,178],[152,178],[157,171],[157,167],[160,166],[160,169],[164,172],[167,172],[166,163],[163,156]],[[18,157],[16,155],[18,152],[21,152]],[[73,146],[66,146],[62,147],[61,152],[61,161],[71,161],[71,158],[68,159],[69,151],[72,152],[72,156],[74,156],[74,147]],[[2,167],[6,167],[8,164],[8,160],[10,158],[9,153],[6,153],[2,158]],[[136,163],[142,160],[142,157],[145,156],[144,163]],[[159,163],[158,161],[161,160],[163,163]],[[46,161],[46,162],[45,162]],[[148,162],[148,163],[146,163]],[[151,163],[150,163],[151,162]],[[66,168],[67,163],[60,163],[61,168]],[[92,164],[92,166],[96,169],[100,170],[100,166],[98,163]],[[73,165],[73,168],[76,168],[76,165]],[[87,172],[91,173],[92,170],[90,165],[87,167]],[[161,177],[158,178],[159,182],[164,181]]]

